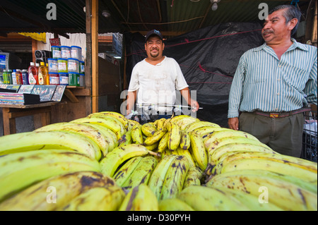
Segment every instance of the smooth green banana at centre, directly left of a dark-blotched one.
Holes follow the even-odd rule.
[[[148,181],[148,186],[157,197],[157,200],[160,200],[160,193],[161,189],[163,188],[163,182],[165,181],[167,170],[177,157],[178,156],[175,154],[165,156],[158,162],[157,166],[155,166],[155,169],[153,170],[153,174],[151,174],[151,178]]]

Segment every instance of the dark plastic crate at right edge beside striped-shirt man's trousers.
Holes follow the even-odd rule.
[[[317,162],[317,111],[304,114],[305,124],[302,133],[302,159]]]

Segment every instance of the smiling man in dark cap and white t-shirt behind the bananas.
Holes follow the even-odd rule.
[[[163,36],[158,30],[151,30],[146,35],[145,49],[147,58],[134,66],[129,83],[126,114],[131,114],[134,103],[142,106],[144,111],[156,112],[169,117],[175,104],[176,93],[179,90],[193,111],[199,109],[199,104],[191,98],[189,85],[175,59],[163,56]]]

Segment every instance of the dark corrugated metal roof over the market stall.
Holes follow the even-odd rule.
[[[167,36],[226,22],[258,19],[259,4],[269,8],[291,1],[220,0],[211,10],[210,0],[99,0],[99,33],[146,32],[158,29]],[[57,20],[47,19],[47,4],[57,6]],[[310,0],[299,1],[307,11]],[[1,0],[0,35],[8,32],[86,32],[86,0]],[[110,18],[102,16],[109,10]]]

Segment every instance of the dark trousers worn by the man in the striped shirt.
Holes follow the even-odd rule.
[[[254,135],[272,150],[293,157],[302,152],[304,114],[283,118],[269,118],[249,112],[239,117],[240,130]]]

